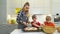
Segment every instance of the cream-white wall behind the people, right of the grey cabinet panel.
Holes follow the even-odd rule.
[[[15,8],[22,8],[26,2],[30,3],[30,15],[60,14],[60,0],[7,0],[7,14],[15,14]]]

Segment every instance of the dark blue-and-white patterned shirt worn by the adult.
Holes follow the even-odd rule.
[[[17,19],[16,19],[18,24],[21,24],[23,22],[28,22],[28,17],[26,16],[24,11],[19,11],[18,15],[17,15]]]

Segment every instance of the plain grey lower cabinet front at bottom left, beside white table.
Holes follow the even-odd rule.
[[[9,24],[0,24],[0,34],[9,34],[11,33],[14,29],[17,29],[17,25],[9,25]]]

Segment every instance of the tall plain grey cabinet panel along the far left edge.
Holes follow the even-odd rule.
[[[6,24],[6,1],[7,0],[0,0],[0,24]]]

